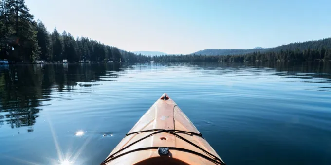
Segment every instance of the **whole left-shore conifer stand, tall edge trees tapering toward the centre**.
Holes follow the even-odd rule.
[[[0,59],[10,61],[147,61],[146,56],[104,45],[87,37],[76,39],[45,25],[29,13],[24,0],[0,0]]]

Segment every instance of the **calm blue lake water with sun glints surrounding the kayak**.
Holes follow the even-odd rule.
[[[313,62],[0,65],[0,164],[97,165],[163,93],[228,165],[331,165]]]

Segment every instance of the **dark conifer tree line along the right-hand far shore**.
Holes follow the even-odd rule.
[[[154,56],[152,60],[156,62],[330,61],[331,38],[292,43],[265,52],[254,51],[243,55],[162,55]]]

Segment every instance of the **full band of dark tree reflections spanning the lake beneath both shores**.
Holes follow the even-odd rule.
[[[259,74],[260,69],[264,69],[279,76],[307,78],[307,82],[311,77],[328,80],[325,83],[330,83],[331,80],[331,64],[328,62],[0,65],[0,128],[8,124],[13,129],[27,127],[27,132],[33,132],[38,113],[42,111],[41,106],[54,99],[51,92],[74,91],[77,85],[89,88],[97,81],[114,81],[120,72],[125,74],[131,70],[168,66],[208,71],[203,74],[240,72],[243,68]],[[330,91],[325,88],[312,90]]]

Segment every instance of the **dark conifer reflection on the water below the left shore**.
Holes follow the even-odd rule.
[[[27,132],[33,132],[37,114],[46,105],[45,101],[52,99],[52,91],[71,91],[79,82],[98,81],[106,71],[120,68],[119,63],[1,66],[0,128],[8,124],[13,129],[27,127]]]

